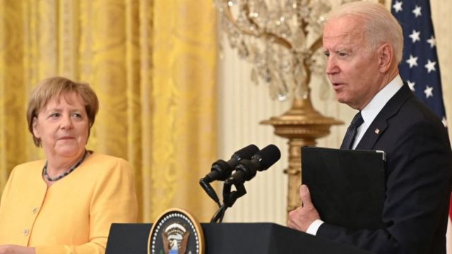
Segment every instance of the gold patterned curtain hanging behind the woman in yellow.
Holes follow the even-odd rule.
[[[208,221],[215,204],[198,180],[216,157],[215,40],[211,0],[0,0],[0,190],[44,156],[28,94],[63,75],[97,92],[88,148],[132,164],[141,221],[169,207]]]

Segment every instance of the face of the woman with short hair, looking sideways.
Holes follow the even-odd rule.
[[[47,159],[81,156],[88,141],[88,130],[85,103],[76,94],[50,99],[33,121],[33,133],[40,138]]]

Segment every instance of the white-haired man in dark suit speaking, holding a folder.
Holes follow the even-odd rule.
[[[386,152],[386,227],[351,230],[322,222],[308,186],[300,187],[304,205],[290,212],[288,226],[372,253],[446,253],[451,145],[441,121],[398,75],[400,25],[381,4],[345,4],[328,18],[323,50],[338,101],[362,119],[345,148]]]

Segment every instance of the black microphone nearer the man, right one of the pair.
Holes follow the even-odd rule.
[[[256,152],[251,159],[242,159],[235,167],[235,173],[225,180],[225,184],[242,184],[249,181],[256,176],[257,171],[268,169],[275,162],[278,162],[280,157],[281,152],[276,145],[267,145]]]

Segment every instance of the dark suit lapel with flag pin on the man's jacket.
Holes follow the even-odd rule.
[[[386,128],[388,128],[388,119],[395,116],[400,110],[400,107],[412,96],[410,87],[404,83],[403,87],[396,92],[396,95],[389,99],[374,121],[372,121],[366,133],[364,133],[362,139],[359,141],[356,150],[374,150],[376,142],[383,135],[384,131],[386,131]]]

